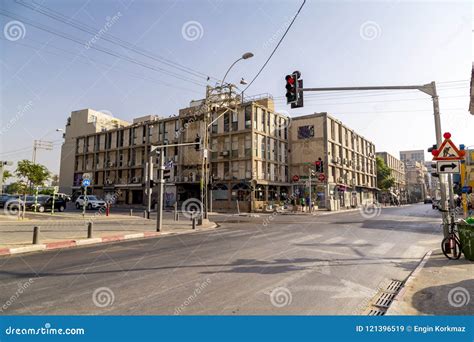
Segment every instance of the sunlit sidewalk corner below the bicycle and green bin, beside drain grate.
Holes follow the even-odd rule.
[[[408,278],[386,315],[472,315],[474,262],[428,253]]]

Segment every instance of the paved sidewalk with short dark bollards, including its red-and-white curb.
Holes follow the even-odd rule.
[[[189,233],[217,227],[214,222],[192,230],[190,220],[174,221],[165,214],[163,229],[156,232],[156,216],[147,220],[137,216],[114,215],[93,218],[93,237],[87,239],[90,217],[54,217],[27,220],[0,220],[0,256],[41,250],[75,247],[111,241],[121,241],[169,234]],[[39,244],[33,245],[33,227],[40,227]]]

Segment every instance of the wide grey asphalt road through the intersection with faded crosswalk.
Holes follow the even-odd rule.
[[[441,237],[423,204],[211,219],[221,227],[0,258],[0,314],[358,314]]]

